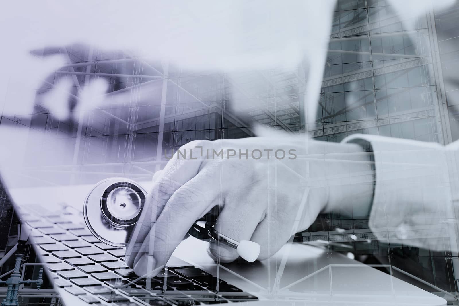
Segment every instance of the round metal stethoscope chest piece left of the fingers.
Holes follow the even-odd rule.
[[[145,205],[146,190],[127,178],[108,178],[86,196],[84,221],[90,232],[107,245],[128,244]]]

